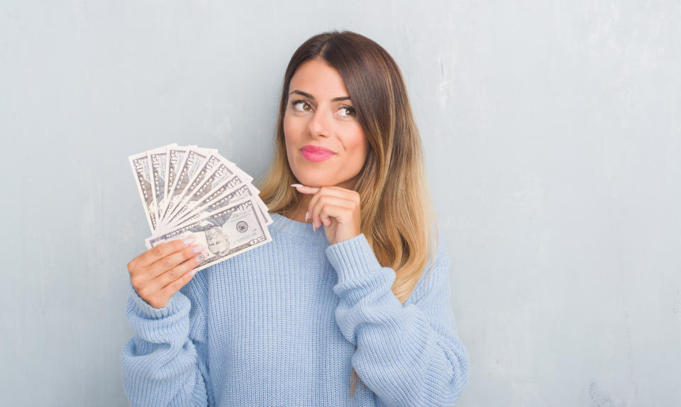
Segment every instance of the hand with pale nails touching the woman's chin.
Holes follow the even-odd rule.
[[[314,194],[307,208],[314,230],[324,225],[331,245],[362,233],[360,194],[340,186],[297,186],[301,194]]]

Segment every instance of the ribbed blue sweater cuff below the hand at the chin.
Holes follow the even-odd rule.
[[[381,268],[364,233],[330,245],[325,252],[338,273],[338,282],[366,279],[367,272]]]

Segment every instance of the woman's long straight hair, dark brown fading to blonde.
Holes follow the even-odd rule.
[[[392,291],[404,303],[428,259],[434,262],[437,225],[402,72],[380,45],[358,33],[331,31],[314,35],[294,52],[284,74],[274,161],[258,183],[260,198],[270,212],[282,216],[299,204],[298,191],[290,187],[298,180],[287,159],[284,113],[293,74],[316,58],[343,78],[365,132],[367,157],[353,186],[361,199],[361,231],[382,267],[394,269]],[[350,396],[356,379],[353,369]]]

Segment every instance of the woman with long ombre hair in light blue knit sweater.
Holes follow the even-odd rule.
[[[448,406],[468,377],[449,257],[402,74],[357,33],[321,33],[284,75],[258,185],[273,241],[192,273],[203,247],[129,264],[134,406]]]

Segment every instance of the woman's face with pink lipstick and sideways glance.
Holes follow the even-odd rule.
[[[308,60],[288,91],[284,138],[293,174],[306,186],[352,188],[368,143],[341,74],[322,60]]]

